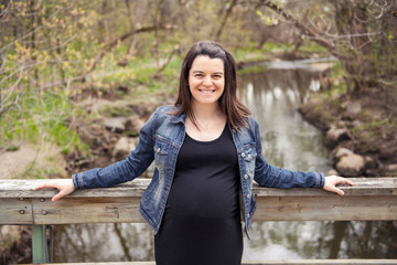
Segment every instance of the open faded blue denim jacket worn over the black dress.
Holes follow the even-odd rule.
[[[171,115],[173,106],[159,107],[139,132],[139,144],[129,156],[106,168],[90,169],[73,174],[76,189],[111,187],[141,176],[154,159],[153,178],[140,204],[143,219],[158,233],[175,171],[179,150],[185,137],[185,114]],[[253,182],[273,188],[323,188],[324,174],[320,172],[290,171],[270,166],[261,155],[259,127],[250,116],[247,126],[232,129],[238,155],[240,176],[240,204],[248,235],[256,210]],[[248,235],[249,236],[249,235]]]

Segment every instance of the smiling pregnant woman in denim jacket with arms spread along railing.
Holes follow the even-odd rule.
[[[256,209],[254,180],[264,187],[320,188],[341,195],[335,184],[352,182],[269,165],[258,124],[236,89],[232,54],[218,43],[197,42],[183,61],[175,104],[152,114],[125,160],[36,189],[58,189],[55,201],[75,189],[130,181],[154,160],[140,212],[154,231],[157,264],[240,265],[242,223],[249,235]]]

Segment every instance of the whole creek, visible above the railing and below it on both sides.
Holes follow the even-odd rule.
[[[322,132],[305,123],[298,107],[320,88],[326,62],[277,62],[264,72],[242,74],[238,96],[258,119],[264,157],[291,170],[332,168]],[[390,222],[254,222],[244,236],[244,261],[396,257],[388,241]],[[153,261],[147,224],[55,225],[53,262]]]

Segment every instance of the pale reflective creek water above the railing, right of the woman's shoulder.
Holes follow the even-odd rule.
[[[319,89],[318,78],[318,73],[303,70],[240,76],[238,96],[258,119],[264,156],[271,165],[307,171],[331,168],[322,134],[297,112]]]

